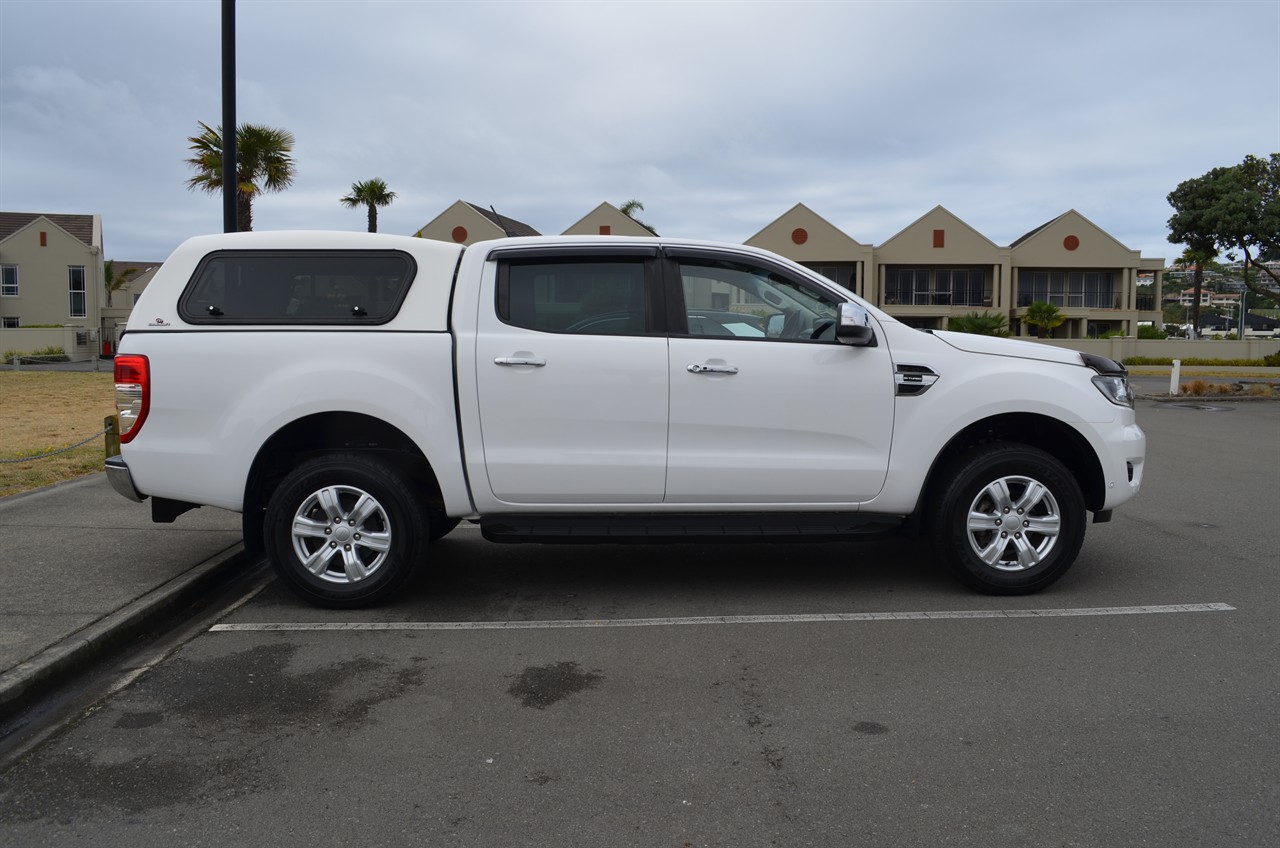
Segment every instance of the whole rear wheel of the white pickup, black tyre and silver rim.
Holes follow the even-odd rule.
[[[376,603],[422,559],[426,512],[388,462],[332,453],[293,469],[271,494],[264,541],[280,580],[325,607]]]

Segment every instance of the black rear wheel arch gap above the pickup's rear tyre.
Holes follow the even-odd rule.
[[[440,483],[430,461],[403,430],[362,412],[316,412],[282,427],[253,457],[244,482],[242,514],[247,551],[255,555],[262,552],[266,505],[284,475],[311,456],[334,451],[394,455],[397,468],[410,477],[422,503],[443,503]]]

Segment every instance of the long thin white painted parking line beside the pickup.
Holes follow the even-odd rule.
[[[573,628],[663,628],[690,624],[813,624],[826,621],[941,621],[952,619],[1061,619],[1096,615],[1161,612],[1230,612],[1226,603],[1170,603],[1143,607],[1079,607],[1074,610],[954,610],[936,612],[818,612],[810,615],[708,615],[676,619],[564,619],[559,621],[282,621],[218,624],[211,633],[324,630],[559,630]]]

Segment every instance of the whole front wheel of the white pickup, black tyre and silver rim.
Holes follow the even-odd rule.
[[[932,505],[934,551],[965,584],[1028,594],[1071,567],[1084,542],[1084,497],[1066,468],[1034,447],[983,444],[950,466]]]

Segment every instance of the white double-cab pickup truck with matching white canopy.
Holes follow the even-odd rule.
[[[494,542],[928,533],[969,585],[1060,578],[1142,484],[1123,366],[922,332],[773,254],[667,238],[183,243],[115,359],[122,494],[369,605]]]

